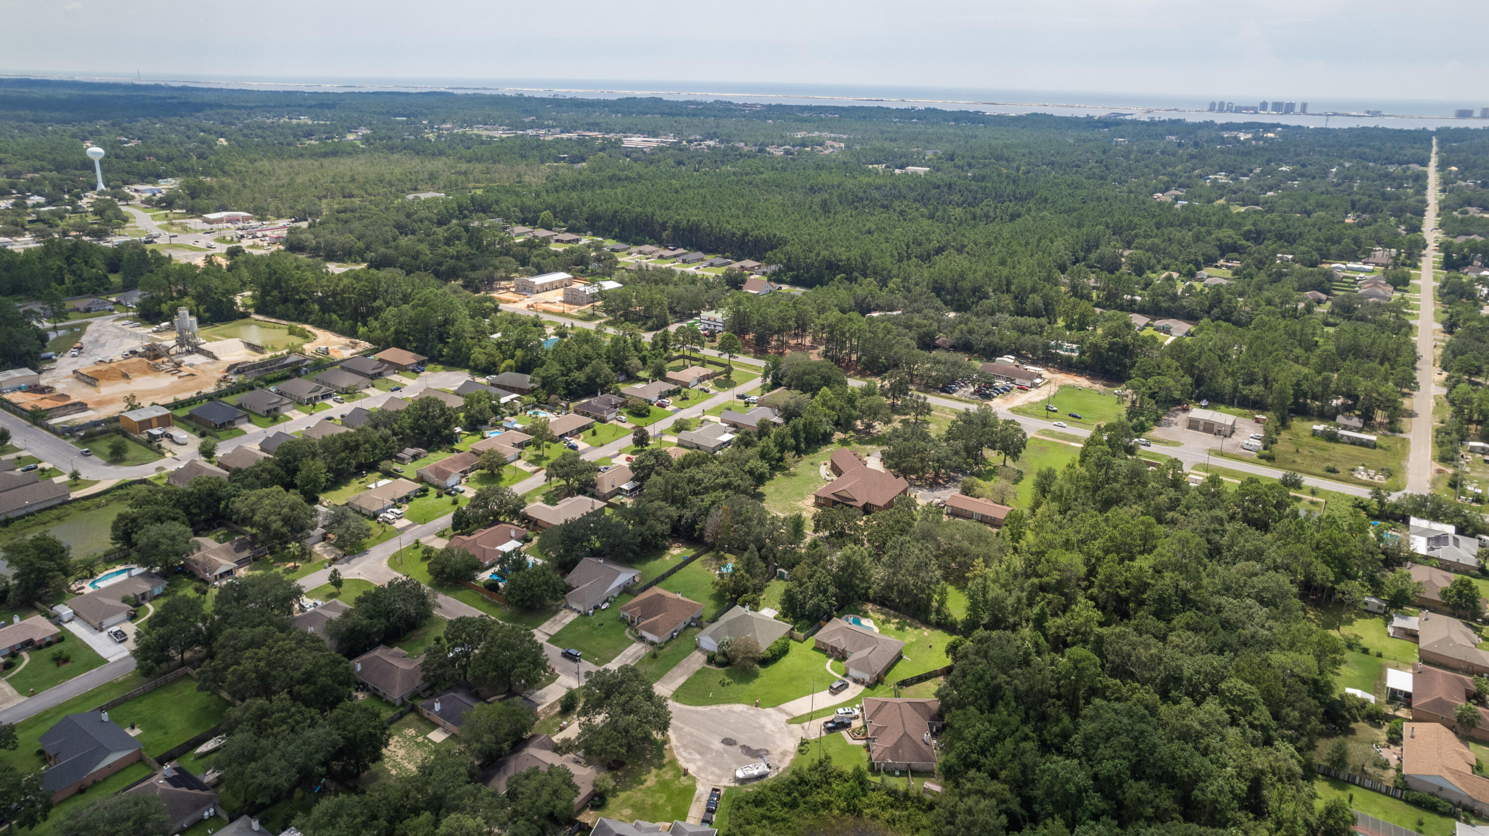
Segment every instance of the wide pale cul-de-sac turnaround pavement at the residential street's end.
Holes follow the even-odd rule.
[[[786,726],[777,711],[739,704],[667,707],[672,750],[700,782],[733,787],[734,771],[762,757],[774,775],[797,754],[801,727]]]

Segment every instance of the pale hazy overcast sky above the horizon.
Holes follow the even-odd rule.
[[[0,71],[9,73],[660,79],[712,89],[789,82],[1489,106],[1489,52],[1473,46],[1489,24],[1485,0],[0,0]]]

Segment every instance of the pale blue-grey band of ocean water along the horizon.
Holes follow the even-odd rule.
[[[1211,97],[1118,91],[1030,91],[959,86],[868,86],[829,83],[779,82],[676,82],[676,80],[616,80],[616,79],[454,79],[454,77],[293,77],[293,76],[211,76],[185,74],[171,77],[141,77],[76,73],[37,73],[25,77],[48,77],[94,82],[140,82],[231,89],[274,89],[305,92],[426,92],[488,95],[536,95],[554,98],[630,98],[658,97],[676,101],[737,101],[743,104],[812,104],[868,107],[934,107],[941,110],[971,110],[981,113],[1053,113],[1059,116],[1105,116],[1123,113],[1130,119],[1185,119],[1191,122],[1269,122],[1278,125],[1312,125],[1352,128],[1362,125],[1386,128],[1485,126],[1489,119],[1456,119],[1453,112],[1473,107],[1474,113],[1489,101],[1444,100],[1371,100],[1371,98],[1310,98],[1297,91],[1263,91],[1266,98],[1236,91],[1215,91]],[[1209,103],[1233,101],[1257,106],[1273,101],[1307,103],[1309,113],[1211,113]],[[1365,112],[1377,110],[1382,116]]]

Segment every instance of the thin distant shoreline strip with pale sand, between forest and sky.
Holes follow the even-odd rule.
[[[666,98],[683,98],[683,100],[725,100],[737,101],[740,104],[771,104],[768,100],[789,100],[803,101],[813,104],[834,104],[843,103],[850,106],[880,106],[880,107],[932,107],[932,109],[951,109],[951,110],[972,110],[978,107],[1004,107],[1004,109],[1029,109],[1029,112],[1036,113],[1053,113],[1062,116],[1077,116],[1090,113],[1060,113],[1063,112],[1102,112],[1102,115],[1112,115],[1115,118],[1135,118],[1142,120],[1144,118],[1158,118],[1170,116],[1187,120],[1206,120],[1212,119],[1217,122],[1273,122],[1273,123],[1288,123],[1294,119],[1303,120],[1328,120],[1342,119],[1349,120],[1352,125],[1337,125],[1337,126],[1361,126],[1374,125],[1377,120],[1410,120],[1410,122],[1434,122],[1432,126],[1441,125],[1464,125],[1464,126],[1489,126],[1489,119],[1479,118],[1449,118],[1449,116],[1429,116],[1429,115],[1415,115],[1415,113],[1362,113],[1362,112],[1318,112],[1318,113],[1225,113],[1212,112],[1197,107],[1172,107],[1172,106],[1144,106],[1144,104],[1088,104],[1088,103],[1066,103],[1066,101],[999,101],[999,100],[980,100],[980,98],[913,98],[913,97],[893,97],[893,95],[832,95],[832,94],[810,94],[810,92],[747,92],[747,91],[707,91],[707,89],[630,89],[624,86],[497,86],[497,85],[439,85],[439,83],[354,83],[354,82],[293,82],[293,80],[211,80],[211,79],[168,79],[168,77],[128,77],[128,76],[86,76],[86,74],[33,74],[33,73],[0,73],[0,79],[34,79],[34,80],[55,80],[55,82],[83,82],[83,83],[143,83],[143,85],[173,85],[173,86],[201,86],[201,88],[222,88],[222,89],[264,89],[264,91],[305,91],[305,92],[453,92],[453,94],[485,94],[485,95],[535,95],[535,97],[566,97],[572,95],[576,98],[596,98],[596,97],[666,97]],[[990,116],[1002,116],[1011,113],[987,113]],[[1407,126],[1407,125],[1400,125]],[[1412,125],[1412,126],[1428,126],[1428,125]]]

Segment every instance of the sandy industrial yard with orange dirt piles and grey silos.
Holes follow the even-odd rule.
[[[22,409],[40,406],[55,422],[73,424],[124,412],[125,396],[133,394],[141,405],[170,403],[220,388],[241,375],[259,376],[313,360],[350,357],[363,347],[331,332],[305,330],[313,339],[284,356],[241,338],[204,335],[185,308],[171,323],[155,327],[131,327],[119,318],[95,320],[76,357],[58,357],[42,369],[40,387],[12,393],[24,394],[25,403],[7,399]]]

